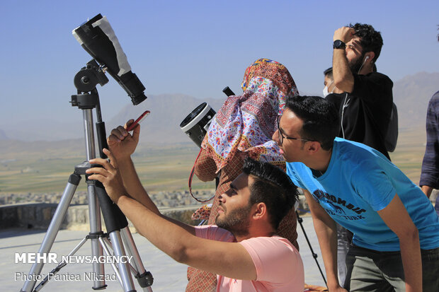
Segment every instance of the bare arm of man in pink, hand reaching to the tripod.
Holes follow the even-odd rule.
[[[118,204],[140,234],[177,262],[232,279],[256,280],[253,259],[242,245],[198,238],[193,226],[167,218],[154,211],[155,205],[149,209],[149,204],[145,206],[130,197],[122,183],[117,160],[108,150],[106,155],[111,163],[101,158],[90,160],[90,163],[103,165],[103,168],[87,170],[92,174],[89,179],[103,183],[108,196]]]

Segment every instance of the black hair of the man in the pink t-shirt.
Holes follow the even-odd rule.
[[[267,162],[247,157],[242,171],[254,180],[249,186],[250,204],[266,204],[271,225],[278,229],[280,221],[299,199],[297,187],[283,170]]]

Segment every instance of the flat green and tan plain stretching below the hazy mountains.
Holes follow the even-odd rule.
[[[0,194],[62,192],[74,165],[81,163],[81,144],[73,147],[40,145],[3,145],[0,153]],[[76,141],[78,143],[78,141]],[[73,150],[72,150],[73,149]],[[401,131],[392,161],[415,183],[419,181],[425,151],[425,131]],[[187,190],[188,177],[198,148],[191,144],[140,147],[133,156],[140,180],[149,191]],[[193,180],[193,189],[213,189],[214,182]],[[79,191],[86,190],[81,182]]]

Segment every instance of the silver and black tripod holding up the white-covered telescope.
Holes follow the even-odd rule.
[[[93,108],[96,107],[96,122],[97,136],[99,141],[99,149],[101,158],[106,158],[102,152],[102,148],[107,148],[105,124],[102,122],[101,110],[99,105],[98,91],[96,84],[105,84],[108,79],[103,72],[98,68],[94,60],[87,64],[87,67],[81,69],[75,76],[75,86],[78,88],[78,94],[72,95],[72,106],[77,106],[83,111],[84,117],[84,134],[86,141],[86,158],[87,160],[80,165],[76,165],[74,173],[70,175],[69,182],[64,189],[61,200],[57,206],[55,214],[47,229],[45,238],[42,240],[38,254],[41,258],[47,257],[55,241],[59,228],[67,214],[69,204],[81,180],[81,175],[86,175],[86,170],[96,165],[90,165],[89,160],[96,157],[96,147],[93,131]],[[94,85],[93,85],[94,84]],[[90,91],[90,92],[89,92]],[[83,94],[84,93],[84,94]],[[74,249],[67,255],[67,259],[74,255],[79,248],[91,241],[91,253],[93,259],[101,259],[104,257],[114,257],[116,260],[111,263],[111,267],[115,271],[115,275],[120,282],[120,285],[125,292],[133,292],[135,285],[132,280],[130,272],[137,278],[139,286],[143,291],[152,291],[150,287],[153,282],[152,274],[144,269],[142,260],[139,257],[139,252],[135,246],[134,240],[130,233],[127,218],[122,211],[114,204],[108,195],[101,182],[88,180],[86,175],[87,194],[89,198],[89,221],[90,233],[81,240],[81,242],[74,247]],[[106,223],[107,233],[103,233],[101,226],[101,211],[104,221]],[[125,246],[124,246],[125,245]],[[113,250],[113,254],[111,253]],[[118,260],[125,259],[125,260]],[[127,260],[130,259],[130,260]],[[130,263],[132,262],[132,264]],[[50,271],[50,273],[43,279],[40,284],[34,289],[38,276],[42,271],[43,262],[35,262],[30,268],[29,276],[21,292],[40,291],[45,284],[50,281],[57,272],[68,264],[65,260],[58,264],[58,266]],[[106,276],[104,264],[102,261],[92,261],[93,264],[93,290],[100,290],[106,288]]]

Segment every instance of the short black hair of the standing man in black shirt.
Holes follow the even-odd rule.
[[[363,24],[363,23],[352,23],[349,24],[350,28],[355,30],[356,36],[361,38],[361,47],[363,47],[363,54],[367,52],[374,52],[375,57],[373,57],[372,61],[377,61],[378,57],[380,57],[381,48],[383,45],[381,33],[375,30],[372,25]]]

